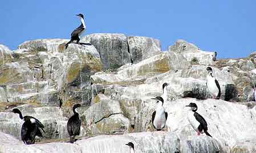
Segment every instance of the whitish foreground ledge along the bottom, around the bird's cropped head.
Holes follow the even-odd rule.
[[[12,140],[10,135],[0,133],[0,138]],[[15,139],[14,139],[15,140]],[[1,152],[94,152],[94,153],[112,153],[112,152],[128,152],[129,147],[125,143],[133,142],[135,144],[136,153],[142,152],[180,152],[180,142],[174,133],[132,133],[125,135],[101,135],[92,138],[83,138],[77,140],[74,144],[53,142],[44,144],[24,145],[15,143],[1,142]],[[156,144],[156,145],[152,145]]]

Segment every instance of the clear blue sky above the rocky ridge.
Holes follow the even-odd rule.
[[[93,33],[148,36],[162,50],[184,39],[218,58],[249,56],[256,51],[255,0],[80,0],[0,1],[0,44],[17,49],[26,40],[69,39],[85,15]]]

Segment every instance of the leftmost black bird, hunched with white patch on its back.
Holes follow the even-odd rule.
[[[43,138],[40,129],[45,132],[43,129],[44,126],[38,119],[27,115],[23,117],[21,111],[18,109],[13,109],[12,112],[19,114],[19,118],[25,121],[21,127],[21,139],[25,144],[34,144],[35,136]]]

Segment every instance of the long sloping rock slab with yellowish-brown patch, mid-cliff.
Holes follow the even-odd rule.
[[[121,82],[132,80],[143,80],[160,73],[168,72],[170,69],[181,69],[188,67],[185,59],[176,53],[160,53],[150,57],[131,67],[122,68],[115,73],[96,73],[91,76],[93,83]]]

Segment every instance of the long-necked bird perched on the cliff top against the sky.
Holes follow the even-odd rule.
[[[84,31],[86,31],[86,23],[84,22],[84,15],[83,14],[78,14],[76,15],[80,18],[81,20],[81,24],[78,28],[76,28],[72,33],[71,33],[71,39],[70,42],[68,42],[67,44],[65,44],[65,47],[67,49],[68,44],[74,42],[76,40],[76,43],[80,44],[80,38],[79,36],[83,34]]]

